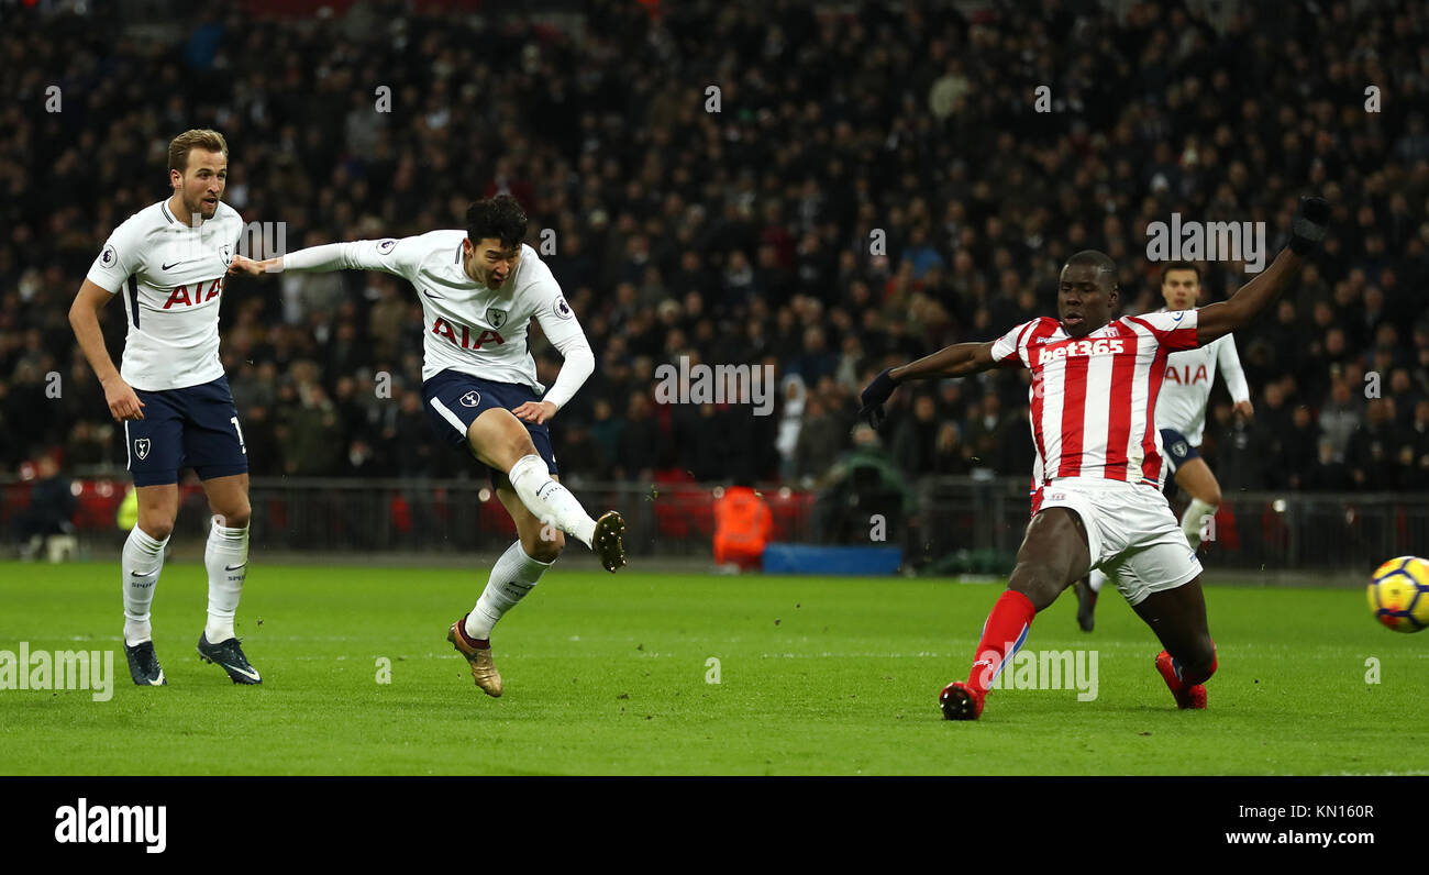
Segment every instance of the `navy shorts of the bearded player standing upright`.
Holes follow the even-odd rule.
[[[134,486],[179,482],[179,469],[191,468],[200,480],[249,473],[239,412],[229,377],[211,383],[146,392],[143,419],[124,420],[124,446]]]

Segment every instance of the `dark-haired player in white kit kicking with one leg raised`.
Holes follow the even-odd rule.
[[[497,196],[473,203],[466,222],[466,230],[330,243],[263,262],[240,257],[233,270],[382,270],[417,290],[427,419],[443,440],[469,449],[490,469],[520,535],[496,560],[476,606],[447,631],[476,685],[499,696],[492,628],[560,555],[562,533],[594,550],[606,570],[623,566],[624,520],[616,510],[592,519],[556,478],[546,423],[594,372],[596,360],[550,267],[522,243],[526,213],[513,197]],[[549,392],[536,380],[526,337],[532,319],[564,356]]]

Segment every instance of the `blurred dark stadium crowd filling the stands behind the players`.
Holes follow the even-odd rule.
[[[110,229],[167,196],[169,140],[214,127],[226,200],[286,223],[289,249],[460,227],[472,199],[514,194],[596,352],[553,429],[590,479],[812,482],[853,448],[872,375],[1053,315],[1070,253],[1109,253],[1146,312],[1147,223],[1265,222],[1273,256],[1322,192],[1323,257],[1236,336],[1255,417],[1218,389],[1203,453],[1228,489],[1429,486],[1429,11],[1319,9],[1246,3],[1218,30],[1165,3],[600,0],[570,34],[403,3],[300,27],[193,7],[143,31],[10,7],[0,469],[53,450],[123,469],[66,313]],[[1249,279],[1203,267],[1202,303]],[[230,277],[253,473],[482,476],[429,433],[420,326],[386,275]],[[119,306],[104,327],[117,360]],[[533,350],[550,385],[559,357]],[[772,366],[773,415],[656,403],[680,356]],[[899,392],[883,452],[1025,476],[1027,373],[983,377]]]

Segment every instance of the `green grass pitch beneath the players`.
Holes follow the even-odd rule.
[[[256,556],[239,635],[264,683],[244,688],[199,661],[203,568],[173,562],[154,605],[169,686],[139,689],[117,562],[0,563],[0,651],[116,655],[109,702],[0,691],[0,773],[1429,773],[1429,633],[1380,628],[1359,588],[1209,586],[1205,712],[1175,709],[1120,598],[1086,635],[1069,592],[1026,646],[1096,649],[1096,701],[995,691],[982,721],[949,723],[937,692],[966,676],[999,586],[557,569],[497,628],[489,699],[444,641],[484,579]]]

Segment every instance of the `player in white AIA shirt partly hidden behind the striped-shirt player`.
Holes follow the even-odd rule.
[[[1193,310],[1200,297],[1200,269],[1189,262],[1172,262],[1162,269],[1162,297],[1166,306],[1159,312]],[[1166,380],[1156,399],[1156,429],[1166,448],[1166,466],[1176,478],[1176,485],[1190,496],[1190,506],[1180,518],[1180,529],[1190,542],[1190,549],[1200,548],[1200,536],[1220,506],[1220,483],[1210,466],[1200,458],[1200,438],[1206,429],[1206,405],[1210,387],[1216,382],[1216,367],[1226,380],[1235,412],[1250,419],[1255,407],[1250,405],[1250,387],[1240,369],[1236,355],[1236,340],[1232,335],[1198,349],[1172,353],[1166,359]],[[1076,622],[1083,632],[1096,625],[1096,596],[1102,590],[1106,575],[1093,568],[1077,580]]]

